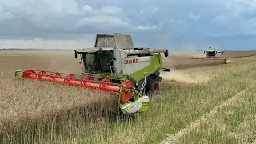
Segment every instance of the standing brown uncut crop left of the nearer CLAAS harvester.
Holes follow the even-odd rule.
[[[67,114],[82,113],[90,121],[116,110],[117,97],[109,93],[55,82],[14,79],[15,70],[29,68],[81,72],[80,65],[70,60],[70,57],[63,57],[58,61],[50,56],[0,57],[0,131],[22,130],[18,127],[56,117],[62,121]]]

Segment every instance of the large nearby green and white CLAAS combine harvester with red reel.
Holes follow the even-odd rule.
[[[117,114],[134,114],[148,108],[149,96],[144,94],[158,94],[160,70],[170,72],[161,68],[161,53],[168,56],[167,49],[134,48],[130,34],[97,34],[94,47],[74,50],[74,58],[80,55],[82,74],[30,69],[22,78],[110,91],[118,95]]]

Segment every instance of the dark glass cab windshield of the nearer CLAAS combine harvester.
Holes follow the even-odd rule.
[[[111,52],[97,52],[82,54],[83,64],[86,73],[110,73]]]

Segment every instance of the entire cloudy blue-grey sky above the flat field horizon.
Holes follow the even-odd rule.
[[[96,34],[136,47],[256,50],[256,0],[1,0],[0,48],[81,49]]]

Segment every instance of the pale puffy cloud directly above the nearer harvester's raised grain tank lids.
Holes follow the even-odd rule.
[[[100,30],[110,33],[111,31],[130,31],[142,32],[156,30],[157,26],[131,26],[129,18],[124,18],[122,10],[118,6],[106,6],[100,10],[91,12],[86,18],[78,19],[74,25],[77,29],[91,27],[94,30]]]

